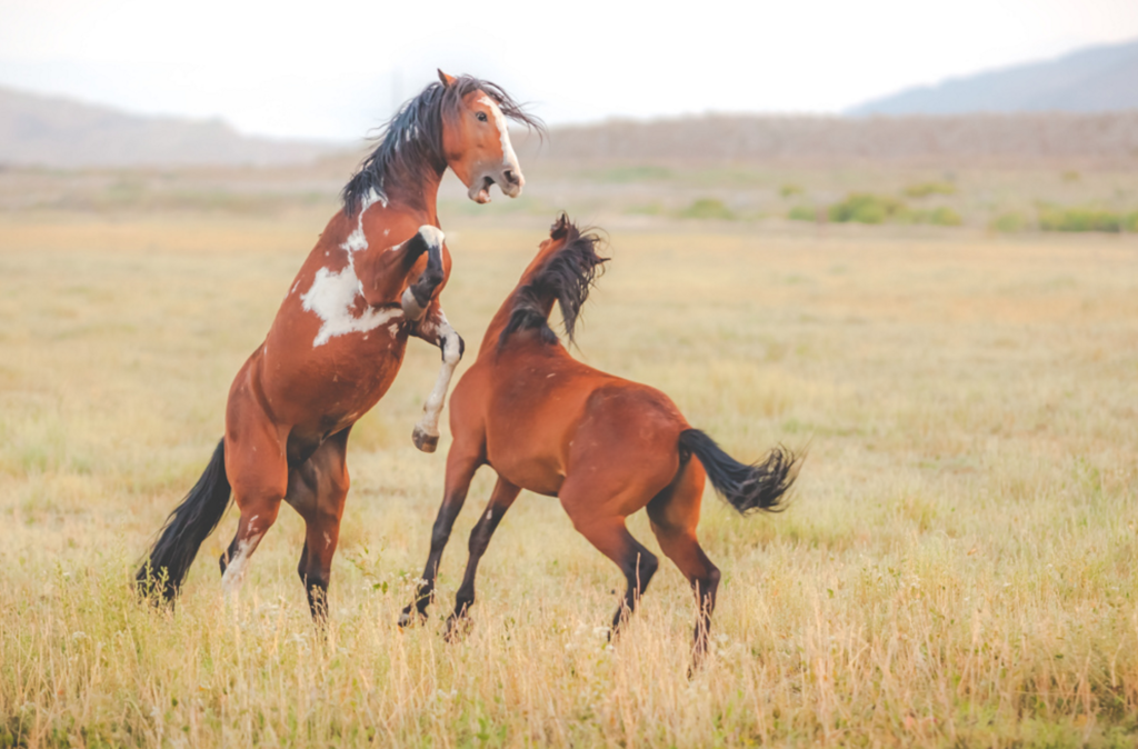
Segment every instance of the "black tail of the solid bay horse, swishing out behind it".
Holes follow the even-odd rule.
[[[740,515],[786,509],[778,500],[798,478],[801,463],[785,447],[775,447],[761,463],[744,466],[699,429],[685,429],[679,434],[679,448],[700,459],[716,492]]]

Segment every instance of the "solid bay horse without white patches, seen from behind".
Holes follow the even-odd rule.
[[[695,537],[704,477],[742,515],[778,511],[800,460],[783,447],[743,464],[693,429],[663,393],[601,372],[572,356],[550,328],[559,303],[566,337],[608,258],[597,237],[562,214],[517,288],[497,311],[477,361],[451,396],[454,442],[446,461],[443,505],[415,600],[399,617],[427,617],[443,549],[481,466],[497,472],[485,513],[470,534],[470,559],[447,619],[453,639],[475,602],[475,574],[494,529],[526,488],[561,501],[574,527],[620,567],[626,590],[611,633],[635,609],[657,570],[657,558],[628,533],[625,519],[648,508],[660,549],[695,591],[693,642],[698,666],[707,651],[719,569]]]

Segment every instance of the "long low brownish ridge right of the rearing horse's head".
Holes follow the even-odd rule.
[[[523,158],[552,160],[1138,164],[1138,112],[940,117],[707,115],[518,132]]]

